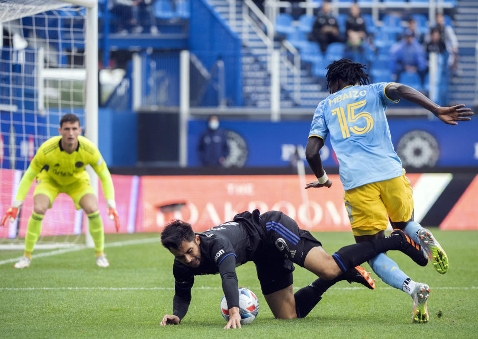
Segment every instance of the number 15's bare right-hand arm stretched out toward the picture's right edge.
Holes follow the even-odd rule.
[[[385,87],[385,94],[392,100],[400,98],[416,103],[435,114],[441,121],[448,125],[458,125],[457,121],[468,121],[473,112],[470,108],[463,108],[465,105],[452,107],[441,107],[418,90],[399,83],[392,83]]]

